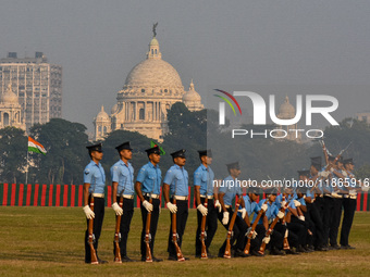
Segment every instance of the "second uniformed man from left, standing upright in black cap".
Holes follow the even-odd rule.
[[[134,215],[134,168],[128,162],[133,158],[132,148],[130,141],[126,141],[118,146],[116,151],[120,154],[120,161],[118,161],[111,167],[111,179],[112,179],[112,209],[115,215],[121,216],[121,259],[122,262],[133,262],[127,256],[127,238],[130,231],[131,219]],[[123,198],[123,207],[121,209],[118,202],[120,198]],[[115,249],[113,250],[114,253]]]

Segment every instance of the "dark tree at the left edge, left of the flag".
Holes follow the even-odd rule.
[[[24,130],[0,129],[0,176],[2,182],[25,181],[27,137]]]

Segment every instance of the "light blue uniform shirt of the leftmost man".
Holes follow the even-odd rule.
[[[84,182],[90,184],[89,193],[104,193],[106,174],[101,164],[91,161],[84,171]]]

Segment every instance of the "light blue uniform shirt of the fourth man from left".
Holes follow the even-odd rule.
[[[170,167],[164,176],[163,182],[170,185],[172,196],[187,197],[188,190],[188,174],[187,171],[174,164]]]

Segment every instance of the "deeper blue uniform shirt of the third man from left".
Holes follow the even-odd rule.
[[[144,165],[137,175],[136,181],[143,184],[143,192],[160,194],[162,173],[158,164],[155,166],[151,162],[149,162]]]

